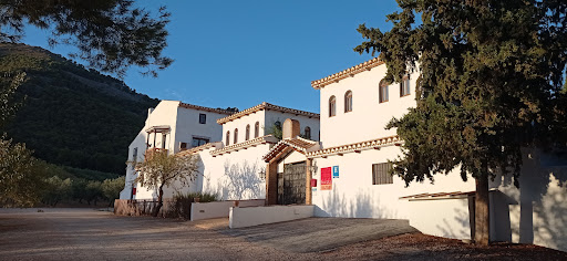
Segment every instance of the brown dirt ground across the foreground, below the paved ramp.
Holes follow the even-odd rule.
[[[476,247],[421,233],[298,253],[226,233],[225,220],[42,210],[0,209],[0,260],[567,260],[566,252],[536,246]]]

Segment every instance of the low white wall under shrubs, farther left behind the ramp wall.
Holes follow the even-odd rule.
[[[238,201],[241,207],[258,207],[265,205],[264,199],[252,199]],[[190,205],[190,220],[202,220],[212,218],[228,218],[230,208],[236,206],[236,201],[216,201],[216,202],[193,202]]]

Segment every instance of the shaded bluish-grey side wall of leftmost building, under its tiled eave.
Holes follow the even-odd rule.
[[[199,114],[206,115],[205,124],[199,123]],[[210,143],[223,140],[223,127],[217,124],[217,119],[226,116],[228,115],[177,107],[173,152],[178,153],[181,150],[181,143],[187,143],[187,147],[190,147],[194,137],[207,138]]]

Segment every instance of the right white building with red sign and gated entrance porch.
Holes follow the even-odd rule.
[[[319,217],[408,219],[424,233],[470,239],[473,178],[464,182],[455,171],[405,187],[388,175],[388,160],[401,155],[403,140],[384,127],[415,106],[419,72],[395,84],[382,81],[385,72],[373,59],[311,82],[320,91],[321,140],[297,137],[300,123],[286,122],[288,137],[264,157],[267,202],[315,205]],[[566,166],[565,159],[532,150],[520,189],[509,178],[494,180],[491,238],[567,250]]]

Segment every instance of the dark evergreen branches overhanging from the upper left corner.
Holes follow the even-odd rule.
[[[52,32],[50,45],[71,44],[97,70],[124,75],[132,66],[156,75],[172,63],[162,54],[169,13],[157,15],[134,7],[133,0],[0,0],[0,41],[18,42],[24,25]]]

